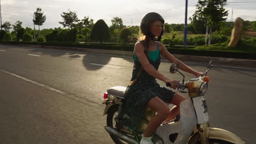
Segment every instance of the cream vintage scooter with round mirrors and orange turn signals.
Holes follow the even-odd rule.
[[[206,73],[214,67],[212,61],[208,64]],[[178,63],[173,63],[170,67],[170,73],[174,74],[179,70]],[[186,93],[184,90],[188,89],[189,98],[182,101],[180,104],[180,115],[171,122],[161,124],[153,134],[154,143],[174,143],[174,144],[244,144],[238,136],[229,131],[219,128],[211,128],[208,117],[208,109],[206,100],[203,95],[206,94],[208,88],[209,77],[200,76],[189,81],[179,82],[178,92]],[[170,83],[166,83],[170,87]],[[104,93],[103,104],[106,105],[103,116],[107,115],[107,126],[104,127],[109,133],[112,140],[117,144],[122,143],[139,143],[141,135],[147,127],[150,118],[156,112],[149,107],[145,108],[144,115],[141,118],[140,125],[136,133],[126,129],[117,129],[115,117],[120,113],[122,103],[124,100],[124,93],[126,87],[115,86],[109,88]]]

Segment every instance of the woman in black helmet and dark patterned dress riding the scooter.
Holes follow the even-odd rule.
[[[140,143],[153,143],[152,133],[163,121],[174,119],[179,114],[179,104],[185,100],[182,95],[156,82],[156,79],[159,79],[165,83],[171,83],[173,89],[178,86],[178,81],[167,79],[158,71],[161,62],[160,55],[171,63],[177,62],[181,70],[194,74],[196,77],[205,75],[176,59],[160,43],[164,33],[164,23],[164,19],[158,13],[148,13],[143,17],[139,41],[135,44],[133,52],[132,79],[124,95],[123,108],[118,115],[119,128],[135,131],[146,106],[157,112],[157,115],[150,119]],[[170,110],[166,103],[176,106]]]

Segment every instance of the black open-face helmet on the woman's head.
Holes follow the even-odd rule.
[[[160,20],[162,23],[165,23],[165,20],[162,18],[162,16],[158,13],[148,13],[146,14],[142,20],[141,20],[141,32],[144,35],[150,35],[150,30],[149,30],[149,23],[156,21],[156,20]],[[164,33],[164,28],[162,29],[161,35]],[[160,39],[161,39],[161,35],[160,35]],[[159,39],[159,40],[160,40]]]

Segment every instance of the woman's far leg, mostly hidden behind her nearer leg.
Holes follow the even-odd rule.
[[[183,100],[186,100],[185,97],[183,97],[181,94],[176,93],[176,95],[174,95],[171,104],[175,105],[172,107],[172,109],[169,112],[168,117],[166,118],[166,120],[171,120],[173,118],[175,118],[177,115],[179,115],[179,105],[181,104],[181,102]]]

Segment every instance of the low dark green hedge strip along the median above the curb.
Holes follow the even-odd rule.
[[[133,45],[106,45],[106,44],[80,44],[75,42],[60,42],[60,41],[46,41],[44,43],[37,42],[4,42],[7,44],[29,44],[29,45],[44,45],[44,46],[65,46],[65,47],[79,47],[89,49],[103,49],[103,50],[121,50],[133,51]],[[245,47],[247,47],[245,49]],[[228,58],[243,58],[256,59],[256,46],[248,45],[247,41],[240,41],[237,47],[228,47],[228,41],[222,44],[215,44],[210,46],[197,46],[194,48],[167,48],[172,54],[178,55],[194,55],[194,56],[210,56],[210,57],[228,57]]]

